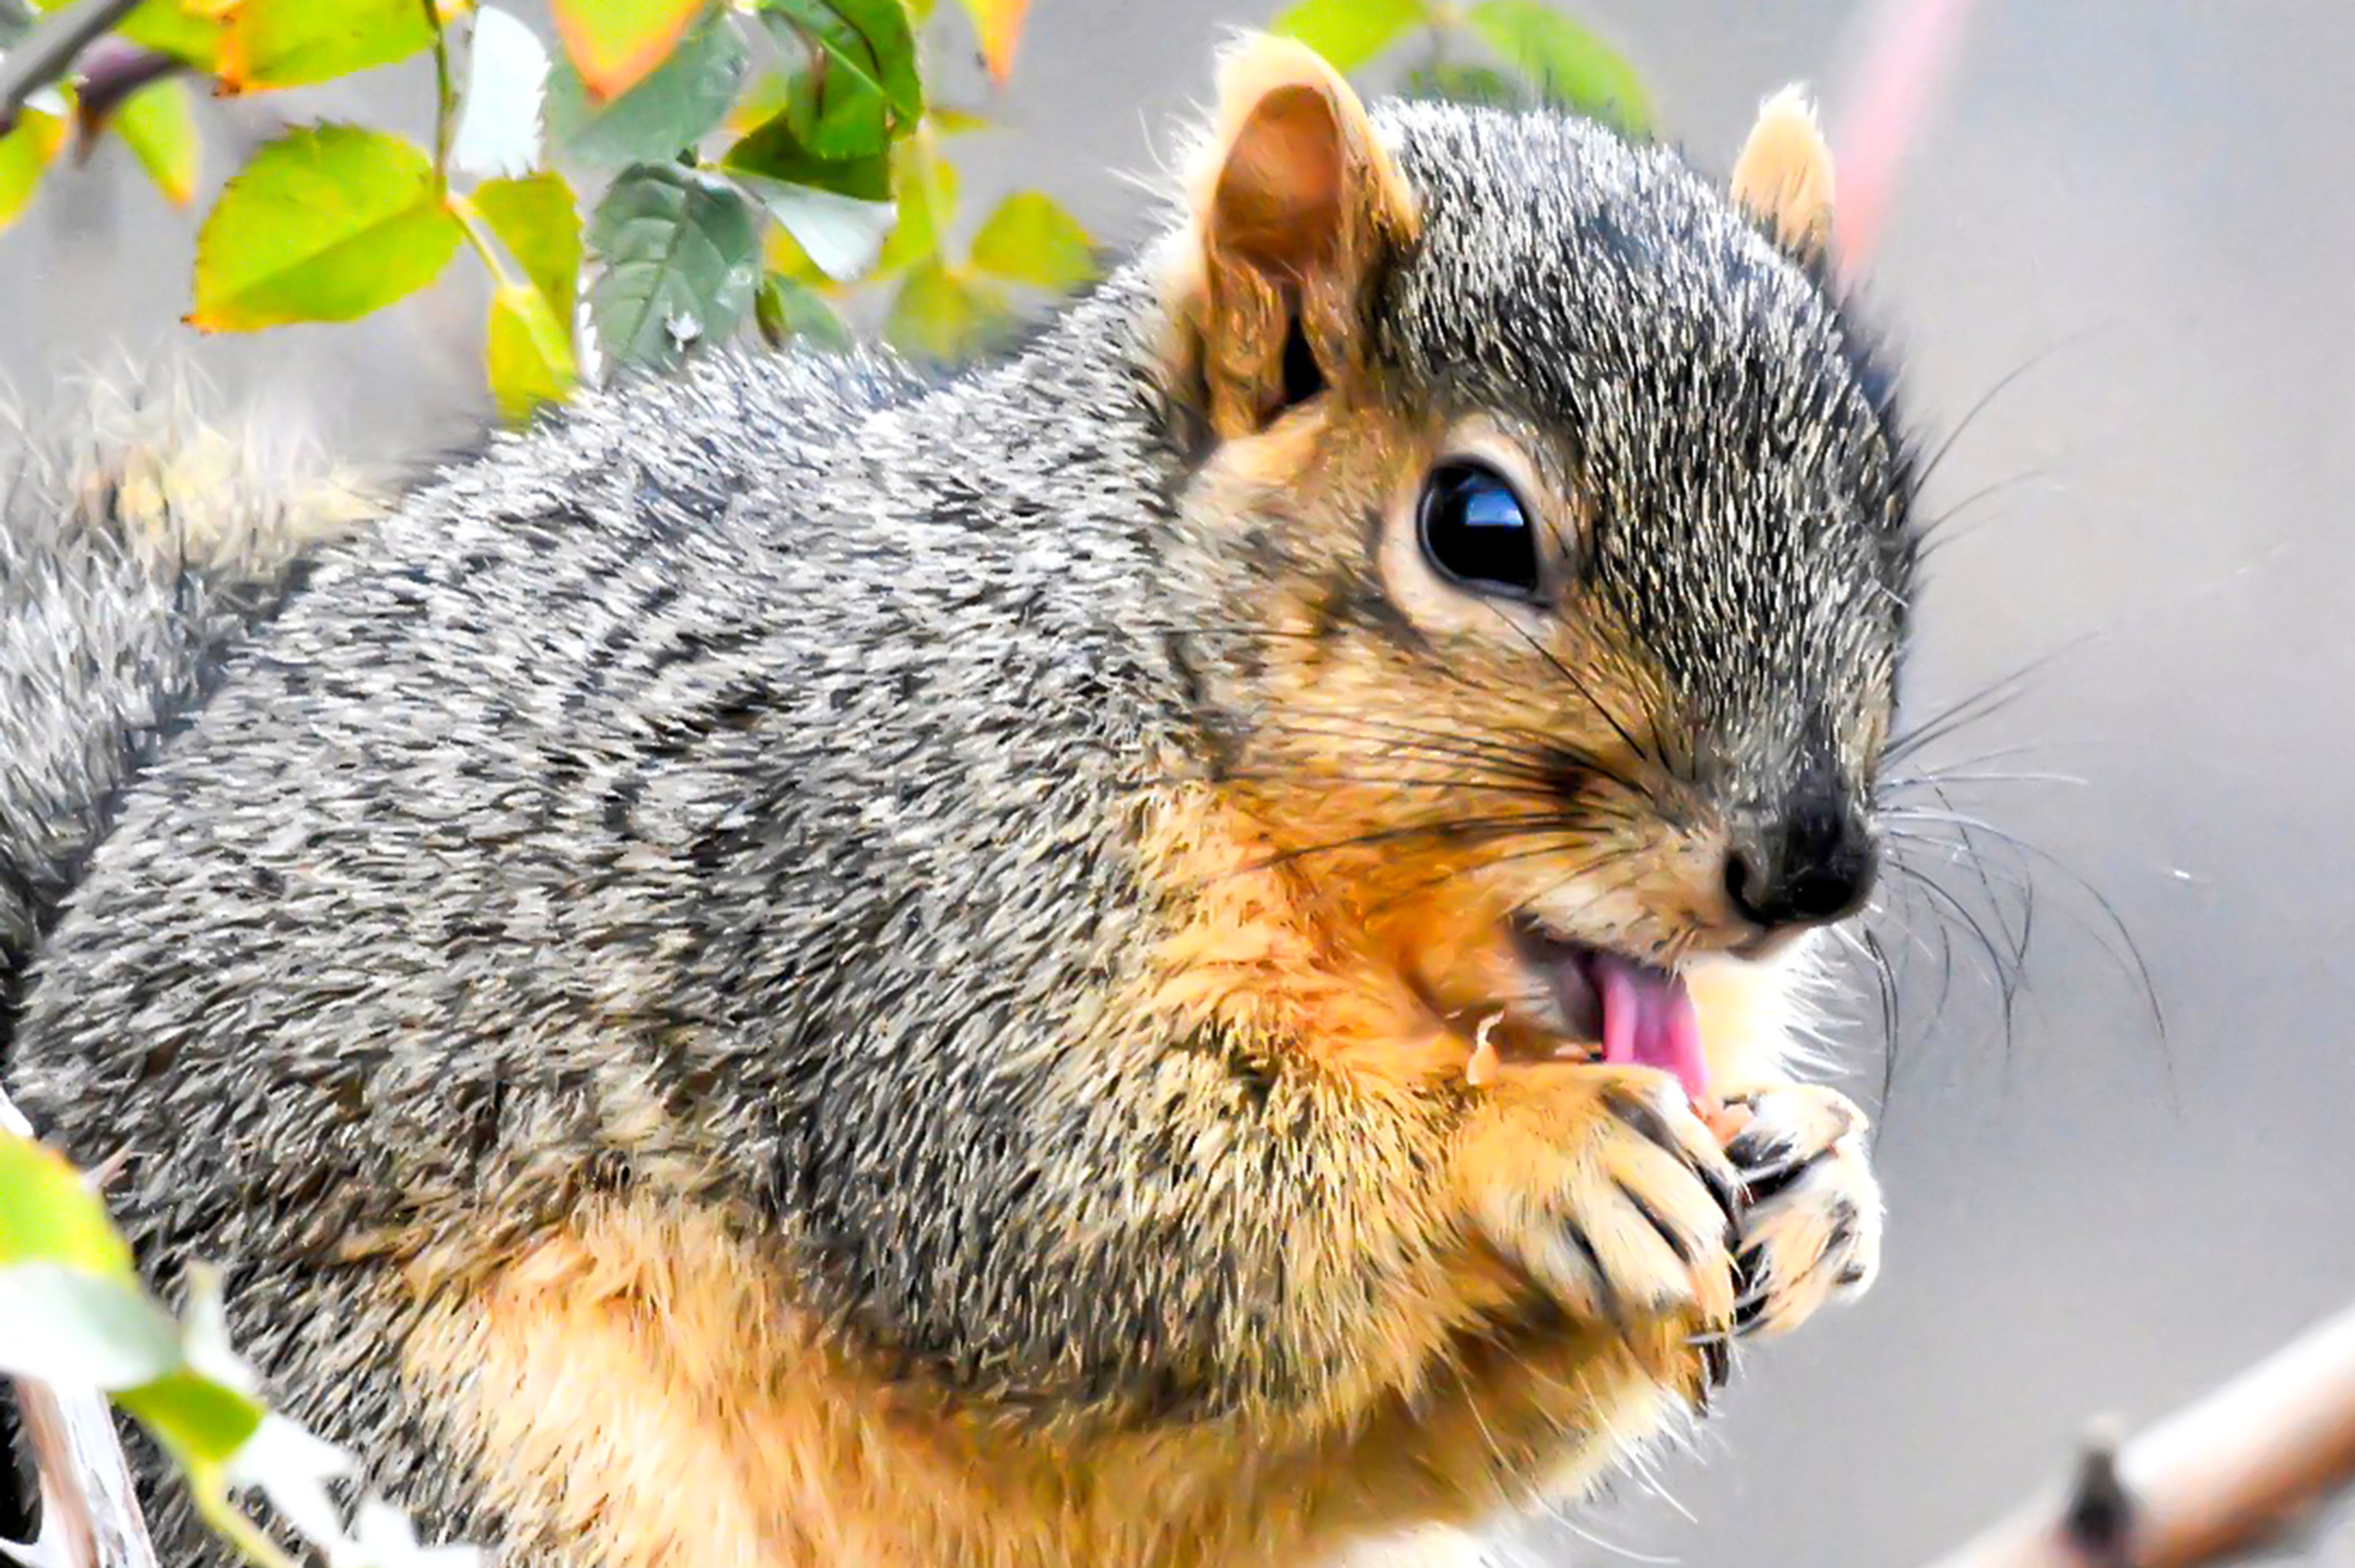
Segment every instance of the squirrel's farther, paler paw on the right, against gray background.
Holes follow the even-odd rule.
[[[1865,1114],[1846,1095],[1790,1085],[1747,1107],[1750,1123],[1726,1142],[1747,1189],[1733,1326],[1764,1340],[1872,1285],[1882,1267],[1882,1189],[1865,1161]]]

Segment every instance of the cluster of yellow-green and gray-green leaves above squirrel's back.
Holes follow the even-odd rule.
[[[1024,0],[963,9],[1003,80]],[[353,320],[424,290],[464,247],[492,285],[490,388],[523,419],[584,365],[662,367],[749,327],[836,346],[848,332],[834,306],[885,285],[895,341],[961,358],[1015,308],[984,273],[1039,292],[1093,275],[1086,233],[1041,193],[994,214],[970,259],[942,252],[954,181],[937,146],[980,120],[923,92],[928,0],[551,12],[556,57],[511,12],[466,14],[464,0],[82,0],[0,61],[26,104],[0,137],[0,226],[68,122],[85,151],[118,129],[188,200],[198,144],[179,75],[226,97],[431,52],[431,146],[299,125],[228,179],[198,233],[188,325]],[[904,202],[902,174],[918,165],[926,191]]]

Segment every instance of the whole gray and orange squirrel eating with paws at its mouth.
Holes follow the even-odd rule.
[[[139,692],[0,683],[89,770],[0,770],[16,1102],[516,1568],[1276,1568],[1590,1488],[1879,1262],[1799,1076],[1915,572],[1830,212],[1792,94],[1722,186],[1251,38],[1003,363],[584,393],[292,509],[217,638],[9,598],[35,687]]]

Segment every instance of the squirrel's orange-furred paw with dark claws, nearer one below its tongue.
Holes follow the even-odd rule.
[[[1472,1220],[1587,1321],[1733,1316],[1740,1177],[1674,1078],[1559,1074],[1517,1107],[1472,1168]]]

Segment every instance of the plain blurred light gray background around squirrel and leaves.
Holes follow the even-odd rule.
[[[1663,127],[1724,167],[1757,99],[1809,78],[1837,122],[1849,0],[1566,0],[1620,40]],[[1243,0],[1036,0],[1003,129],[961,141],[966,212],[1043,186],[1107,240],[1208,87]],[[951,24],[954,26],[954,24]],[[954,45],[937,82],[987,101]],[[2056,857],[2006,1034],[1969,949],[1941,1001],[1912,946],[1879,1165],[1879,1290],[1745,1363],[1696,1453],[1531,1561],[1910,1563],[2063,1471],[2098,1413],[2141,1420],[2355,1300],[2355,5],[1985,0],[1870,285],[1931,445],[1990,388],[1926,497],[1936,556],[1915,711],[2068,650],[1945,749],[2035,746],[1957,803]],[[207,181],[268,115],[424,129],[419,68],[207,106]],[[0,235],[19,398],[111,346],[179,346],[353,452],[471,431],[469,268],[358,327],[193,341],[191,219],[118,148]],[[2025,367],[2025,370],[2023,370]],[[2094,892],[2131,928],[2152,1026]],[[1969,871],[1948,885],[1971,895]],[[1983,890],[1978,890],[1983,892]],[[1898,911],[1903,913],[1903,911]],[[1912,911],[1922,913],[1922,906]],[[1872,1015],[1858,991],[1856,1017]],[[1879,1043],[1849,1067],[1882,1090]],[[1599,1544],[1597,1544],[1599,1542]],[[1627,1554],[1627,1556],[1623,1556]]]

